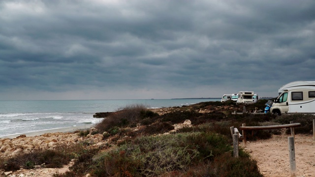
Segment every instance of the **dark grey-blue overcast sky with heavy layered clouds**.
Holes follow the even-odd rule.
[[[315,80],[314,0],[0,0],[0,100],[276,97]]]

